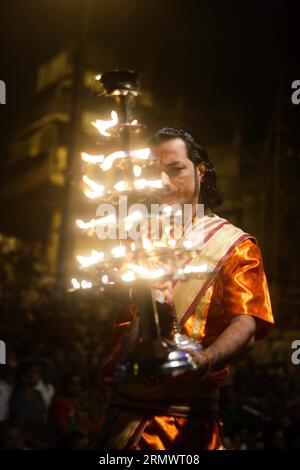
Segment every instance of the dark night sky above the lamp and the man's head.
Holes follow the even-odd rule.
[[[79,3],[1,1],[0,79],[7,83],[8,101],[0,111],[4,140],[36,65],[76,34]],[[114,44],[116,67],[140,72],[166,106],[180,97],[199,116],[201,109],[238,109],[241,125],[255,123],[263,134],[281,71],[299,78],[297,3],[92,0],[89,36]]]

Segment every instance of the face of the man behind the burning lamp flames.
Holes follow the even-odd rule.
[[[199,200],[200,181],[204,166],[195,168],[188,158],[185,142],[175,138],[152,147],[161,177],[170,193],[163,196],[165,204],[196,204]]]

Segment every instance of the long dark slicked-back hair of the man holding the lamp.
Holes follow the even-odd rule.
[[[196,139],[184,129],[164,127],[151,137],[149,145],[152,147],[178,138],[184,141],[187,155],[195,167],[202,162],[205,164],[206,170],[199,195],[201,203],[210,209],[220,206],[224,201],[224,194],[218,186],[216,170],[209,161],[207,149],[199,139]]]

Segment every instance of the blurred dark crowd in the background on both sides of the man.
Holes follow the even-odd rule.
[[[0,368],[2,449],[90,449],[109,400],[100,371],[65,369],[48,358],[20,357],[8,348]],[[256,367],[234,367],[222,389],[223,441],[227,449],[300,447],[299,377]]]

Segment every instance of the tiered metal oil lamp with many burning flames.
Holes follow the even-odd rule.
[[[169,309],[166,314],[166,305],[163,310],[170,327],[168,332],[162,332],[163,298],[155,284],[184,281],[191,276],[207,277],[211,274],[209,264],[207,260],[200,265],[188,264],[199,253],[197,243],[170,236],[174,234],[176,222],[182,220],[180,206],[164,205],[162,211],[150,210],[149,214],[152,204],[159,202],[168,188],[150,149],[137,148],[134,143],[144,129],[130,116],[139,94],[138,76],[131,71],[113,71],[103,74],[100,82],[105,96],[114,99],[117,112],[112,112],[111,121],[97,120],[93,125],[117,146],[106,156],[82,153],[85,166],[93,167],[96,178],[83,175],[84,192],[97,202],[99,217],[76,223],[90,236],[98,235],[98,239],[95,237],[98,246],[103,247],[104,234],[108,232],[115,241],[110,240],[114,246],[104,251],[96,246],[89,256],[77,256],[89,280],[73,279],[72,285],[101,290],[128,286],[137,307],[140,340],[128,358],[118,365],[119,378],[190,370],[196,366],[185,348],[200,350],[201,347],[180,334],[176,313]]]

